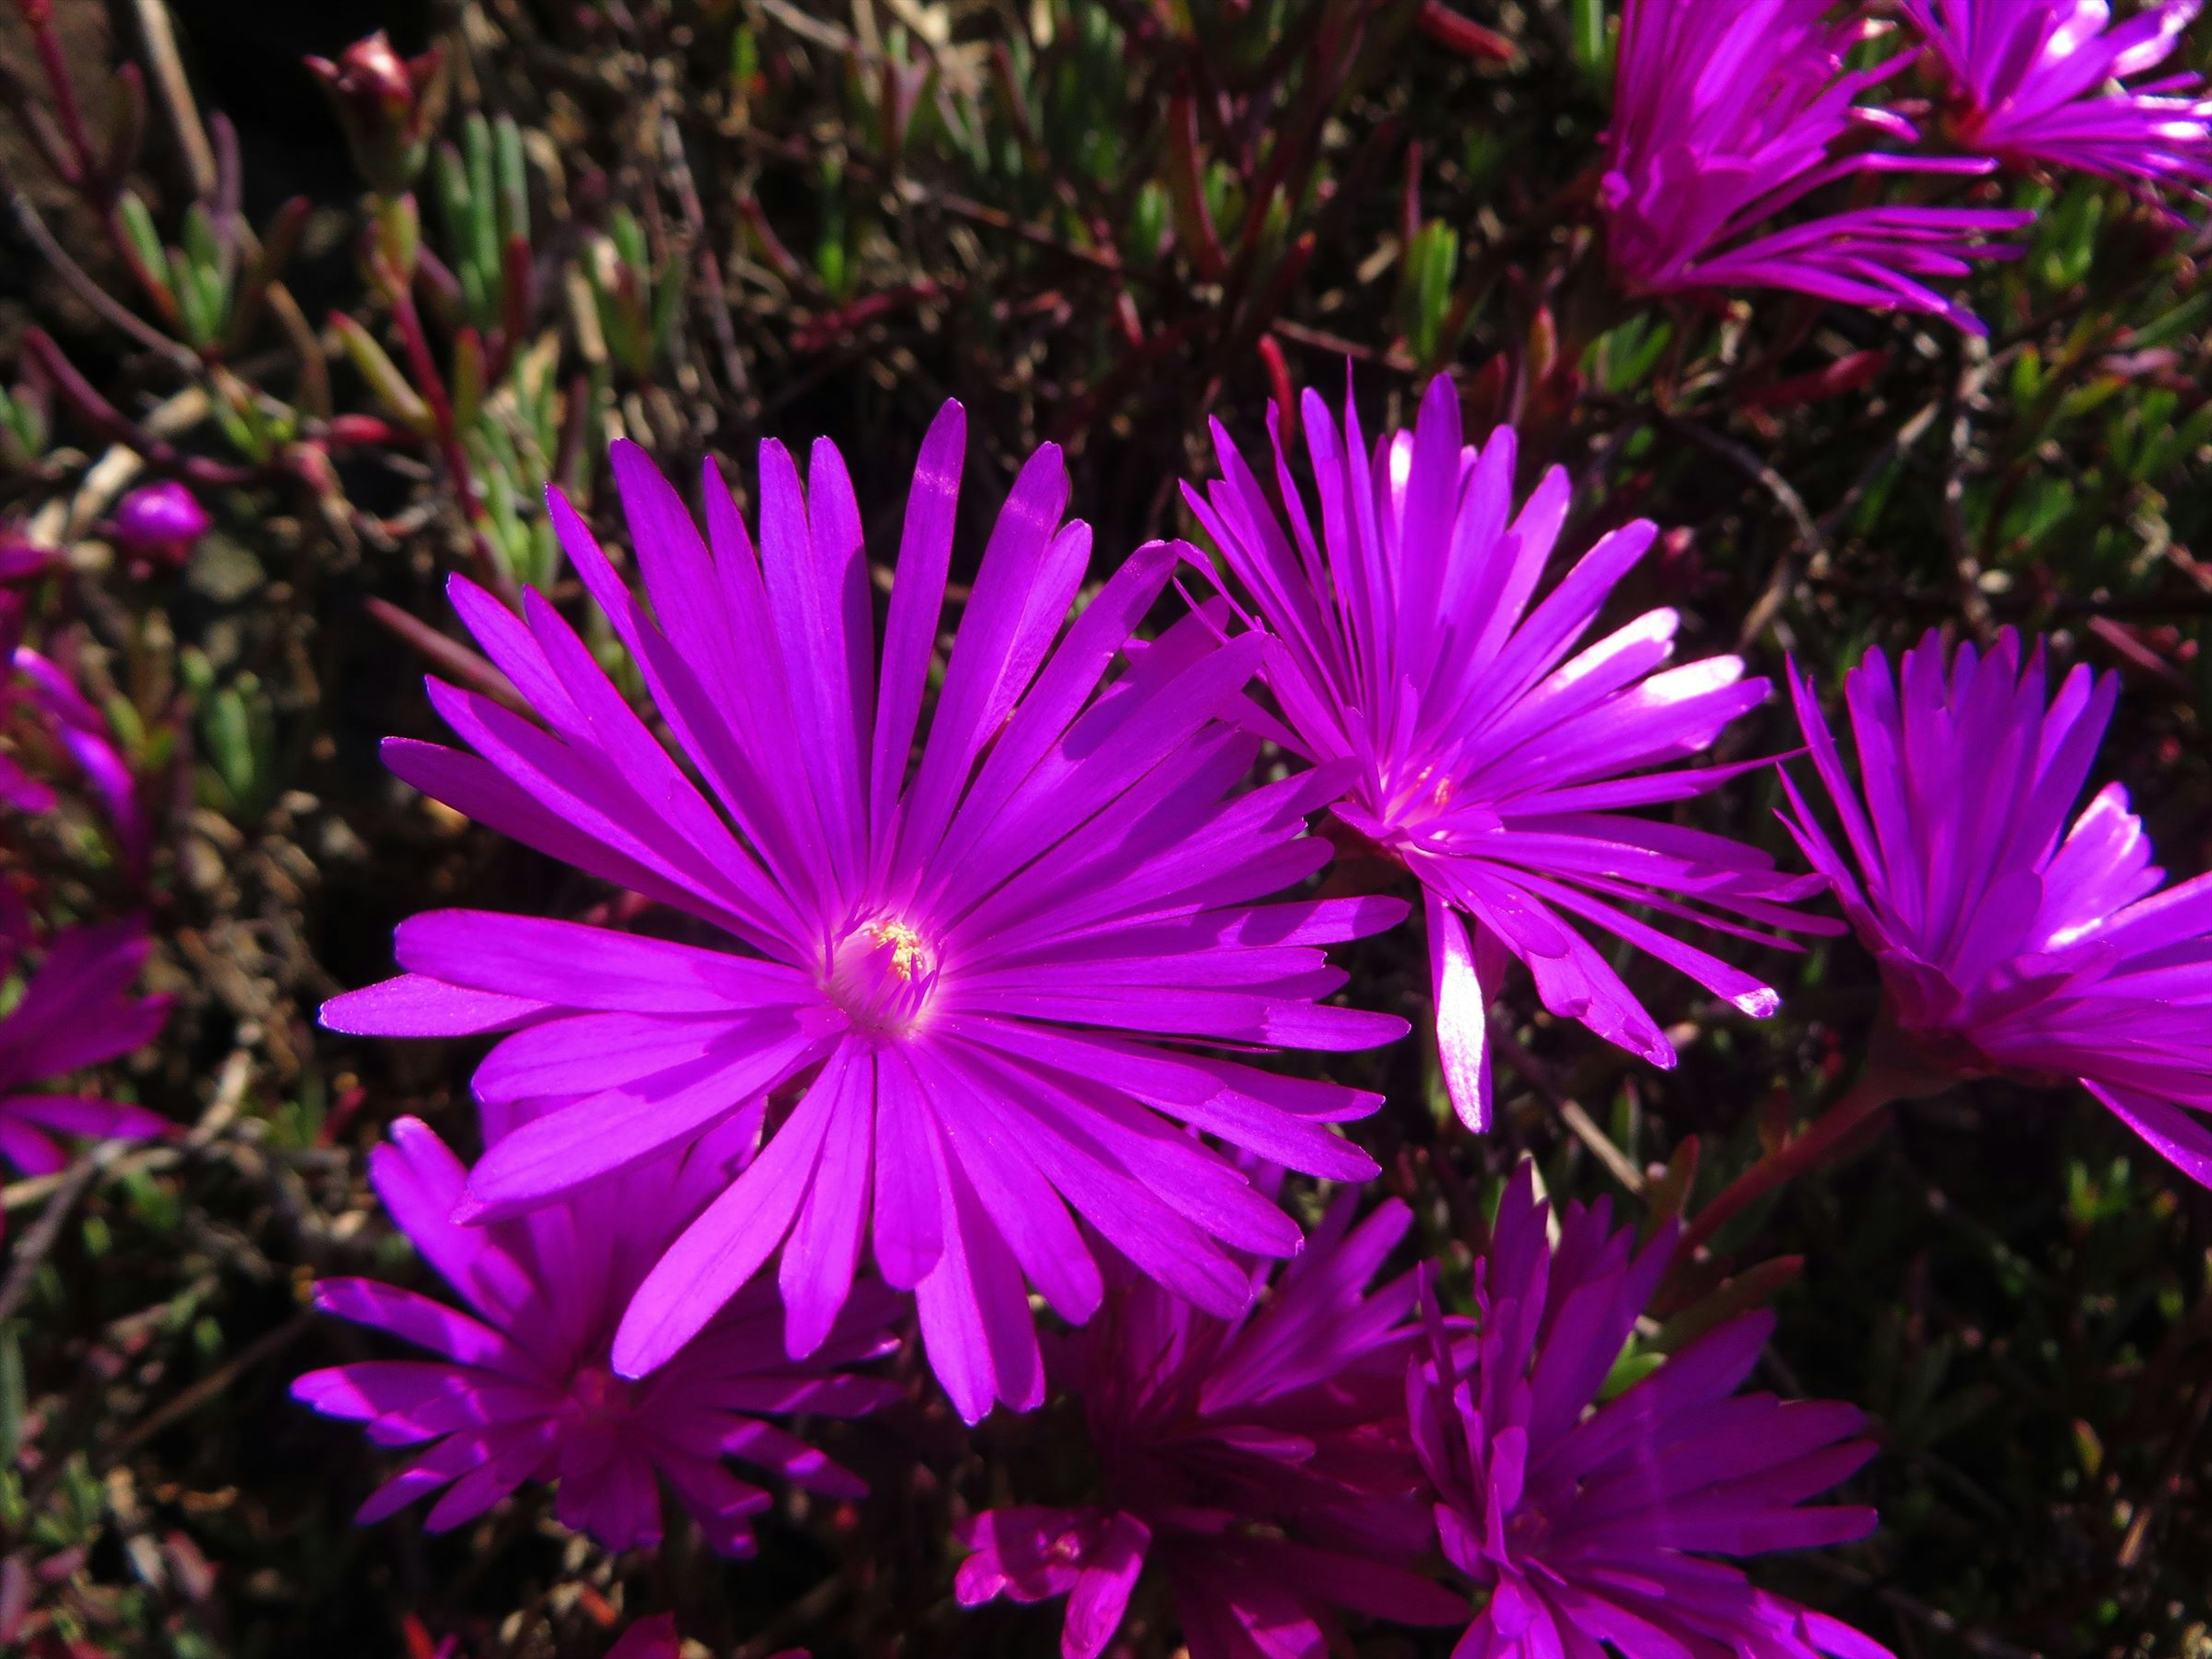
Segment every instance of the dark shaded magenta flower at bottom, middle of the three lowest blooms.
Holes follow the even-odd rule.
[[[1391,1199],[1354,1228],[1354,1203],[1340,1194],[1239,1318],[1117,1274],[1106,1310],[1051,1358],[1088,1420],[1099,1502],[971,1520],[964,1606],[1068,1597],[1066,1659],[1104,1652],[1146,1562],[1192,1659],[1321,1659],[1332,1608],[1400,1624],[1467,1615],[1411,1571],[1429,1548],[1405,1425],[1413,1276],[1367,1294],[1413,1217]]]

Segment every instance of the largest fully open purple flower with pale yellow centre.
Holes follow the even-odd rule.
[[[1088,526],[1062,524],[1057,449],[1015,480],[909,763],[962,449],[947,405],[914,476],[880,666],[830,442],[807,489],[781,445],[761,447],[759,555],[712,469],[701,540],[617,445],[659,624],[549,498],[703,790],[551,604],[526,595],[515,617],[467,582],[462,619],[544,723],[434,681],[476,754],[387,745],[427,794],[714,938],[434,911],[398,931],[407,975],[325,1009],[341,1031],[513,1031],[478,1095],[555,1108],[487,1152],[469,1214],[526,1210],[732,1115],[763,1124],[776,1095],[759,1159],[646,1274],[615,1336],[624,1376],[672,1356],[779,1245],[787,1338],[810,1354],[867,1241],[918,1294],[962,1416],[1026,1409],[1044,1367],[1024,1279],[1073,1323],[1099,1305],[1075,1217],[1223,1318],[1248,1294],[1228,1248],[1298,1248],[1296,1223],[1170,1119],[1329,1179],[1376,1168],[1332,1133],[1376,1095],[1248,1055],[1402,1035],[1323,1002],[1345,975],[1321,951],[1402,905],[1261,902],[1327,863],[1305,814],[1334,779],[1239,792],[1259,739],[1221,717],[1256,639],[1186,619],[1099,690],[1170,546],[1139,549],[1055,648],[1091,555]]]

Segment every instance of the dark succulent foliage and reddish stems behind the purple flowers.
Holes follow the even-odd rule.
[[[1104,571],[1192,533],[1175,480],[1210,469],[1208,418],[1250,440],[1349,363],[1374,431],[1451,374],[1473,431],[1513,420],[1531,476],[1573,471],[1571,551],[1666,526],[1619,606],[1679,606],[1692,653],[1794,653],[1834,686],[1876,641],[2022,626],[2119,670],[2101,776],[2168,867],[2212,863],[2212,239],[2117,186],[2017,179],[2042,217],[1975,279],[1986,341],[1792,294],[1628,301],[1588,212],[1617,20],[1455,4],[0,7],[0,564],[157,830],[135,867],[9,703],[64,803],[4,821],[0,876],[44,922],[153,914],[179,1013],[128,1086],[192,1124],[0,1190],[0,1641],[535,1659],[672,1606],[748,1659],[1051,1650],[1055,1608],[958,1615],[949,1526],[1009,1464],[1077,1458],[1068,1425],[962,1431],[911,1354],[909,1407],[821,1431],[876,1498],[794,1495],[734,1568],[684,1533],[608,1559],[531,1498],[442,1540],[356,1531],[374,1455],[285,1398],[367,1352],[305,1318],[312,1279],[407,1274],[361,1179],[380,1126],[471,1135],[465,1044],[319,1037],[314,1004],[387,971],[414,909],[608,902],[389,781],[374,743],[431,734],[420,670],[482,677],[447,573],[577,611],[538,489],[619,540],[611,436],[748,478],[757,438],[827,434],[880,553],[956,396],[964,546],[1057,440]],[[363,93],[343,53],[372,29],[396,55]],[[215,515],[188,557],[111,533],[148,471]],[[1730,739],[1792,741],[1774,706]],[[1781,849],[1772,805],[1747,781],[1690,810]],[[1849,942],[1761,960],[1767,1024],[1621,967],[1681,1068],[1513,987],[1486,1144],[1425,1044],[1363,1057],[1391,1093],[1363,1137],[1429,1248],[1464,1261],[1522,1148],[1630,1212],[1719,1190],[1843,1088],[1874,1013]],[[1420,1020],[1418,962],[1354,969]],[[1911,1657],[2212,1655],[2212,1197],[2084,1097],[1975,1084],[1717,1243],[1648,1340],[1774,1296],[1765,1383],[1863,1402],[1887,1453],[1858,1482],[1885,1528],[1776,1584]],[[1130,1637],[1168,1646],[1157,1619]]]

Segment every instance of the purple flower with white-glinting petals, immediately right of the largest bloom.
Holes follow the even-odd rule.
[[[1712,911],[1805,927],[1783,905],[1818,891],[1776,874],[1761,852],[1621,812],[1743,772],[1661,768],[1767,695],[1736,657],[1663,668],[1672,611],[1648,611],[1568,655],[1650,546],[1652,524],[1604,535],[1531,606],[1566,518],[1564,469],[1515,513],[1513,431],[1500,427],[1480,453],[1462,447],[1444,376],[1429,385],[1418,427],[1389,434],[1371,458],[1349,400],[1338,431],[1307,392],[1303,425],[1318,535],[1272,411],[1287,533],[1219,422],[1223,478],[1183,495],[1272,635],[1265,681],[1283,723],[1254,726],[1314,761],[1345,763],[1336,816],[1420,880],[1438,1048],[1460,1117],[1489,1124],[1484,1004],[1506,956],[1531,967],[1553,1013],[1674,1064],[1659,1024],[1568,918],[1650,951],[1745,1013],[1772,1013],[1774,991],[1750,973],[1624,909],[1648,905],[1741,933]]]

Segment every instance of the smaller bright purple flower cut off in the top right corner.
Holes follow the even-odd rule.
[[[2104,0],[1905,0],[1951,80],[1944,128],[1969,150],[2108,179],[2212,179],[2197,75],[2126,86],[2181,44],[2201,0],[2112,27]]]

